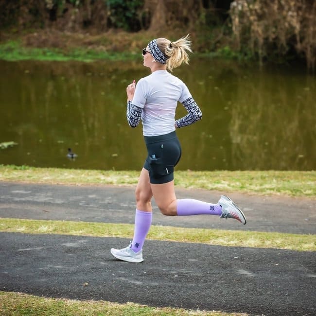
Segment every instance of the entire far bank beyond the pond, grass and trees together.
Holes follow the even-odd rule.
[[[19,53],[2,49],[0,58],[6,60],[111,59],[112,53],[132,53],[140,36],[177,39],[190,33],[195,53],[261,63],[305,61],[315,70],[315,1],[188,0],[180,6],[177,0],[2,2],[2,45],[21,39]],[[102,40],[96,43],[96,37]]]

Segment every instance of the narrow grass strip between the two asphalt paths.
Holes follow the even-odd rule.
[[[0,218],[0,231],[131,238],[134,233],[134,225]],[[152,226],[147,239],[217,246],[316,251],[316,235],[278,232]]]

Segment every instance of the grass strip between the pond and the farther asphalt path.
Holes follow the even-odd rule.
[[[139,171],[0,165],[0,181],[65,185],[136,185]],[[261,195],[316,198],[315,171],[176,171],[176,186]]]

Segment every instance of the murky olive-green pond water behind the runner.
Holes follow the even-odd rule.
[[[140,62],[0,62],[0,163],[140,170],[141,126],[126,123],[126,85]],[[315,170],[315,77],[296,70],[194,59],[174,73],[202,121],[177,131],[177,169]],[[182,105],[177,118],[185,115]],[[68,148],[78,155],[67,159]]]

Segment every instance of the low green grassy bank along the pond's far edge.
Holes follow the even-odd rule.
[[[65,34],[63,34],[65,35]],[[131,61],[141,60],[140,48],[145,47],[153,38],[153,34],[148,32],[106,34],[103,36],[85,35],[92,45],[87,46],[83,38],[76,38],[76,35],[67,34],[68,40],[61,44],[62,48],[55,47],[30,47],[23,43],[23,36],[16,40],[0,42],[0,60],[38,60],[38,61],[80,61],[92,62],[96,60],[110,61]],[[66,36],[67,36],[66,35]],[[52,35],[58,38],[58,35]],[[112,38],[111,38],[111,37]],[[119,36],[119,42],[118,42]],[[63,39],[63,38],[59,38]],[[112,44],[116,41],[116,49]],[[118,44],[118,45],[117,45]],[[193,58],[221,58],[226,60],[250,61],[252,56],[245,55],[231,50],[228,46],[219,48],[217,51],[199,53],[191,55]]]

